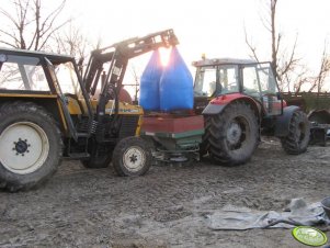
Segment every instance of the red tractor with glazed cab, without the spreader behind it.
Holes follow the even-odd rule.
[[[270,63],[225,58],[193,65],[195,112],[205,121],[202,155],[219,164],[243,164],[261,135],[278,137],[287,154],[306,151],[308,119],[283,101]]]

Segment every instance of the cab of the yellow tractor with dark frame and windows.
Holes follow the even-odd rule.
[[[83,102],[78,104],[78,97]],[[0,49],[0,103],[19,99],[53,113],[64,136],[78,139],[77,116],[92,116],[88,94],[71,56],[23,49]]]

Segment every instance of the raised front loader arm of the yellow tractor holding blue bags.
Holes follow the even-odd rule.
[[[111,99],[116,100],[114,114],[118,114],[117,95],[121,91],[122,82],[130,58],[156,50],[159,47],[170,47],[178,44],[179,41],[173,30],[166,30],[144,37],[125,40],[111,46],[93,50],[83,77],[84,87],[88,93],[95,93],[100,77],[103,74],[103,65],[105,63],[109,65],[107,72],[102,77],[102,88],[96,108],[98,122],[103,123],[105,106]]]

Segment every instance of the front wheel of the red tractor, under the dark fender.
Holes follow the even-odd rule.
[[[309,136],[310,126],[307,115],[303,111],[296,111],[288,126],[288,135],[281,138],[281,144],[285,153],[299,155],[307,150]]]

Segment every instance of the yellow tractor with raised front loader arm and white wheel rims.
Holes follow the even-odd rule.
[[[0,48],[0,188],[37,187],[61,158],[146,173],[151,154],[136,136],[143,109],[120,102],[122,81],[130,58],[177,44],[166,30],[93,50],[83,78],[71,56]]]

